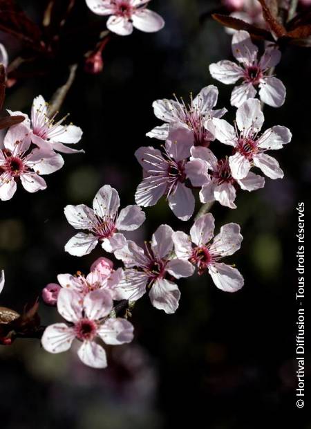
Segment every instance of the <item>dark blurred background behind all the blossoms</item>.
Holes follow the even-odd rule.
[[[46,1],[17,3],[37,22],[46,6]],[[83,0],[76,3],[73,26],[101,20],[104,28],[104,17],[93,15]],[[1,305],[22,311],[58,273],[88,273],[104,255],[100,247],[82,258],[64,252],[75,233],[64,206],[91,205],[108,183],[119,191],[122,206],[134,202],[142,176],[135,149],[158,145],[145,137],[160,125],[153,100],[173,93],[187,99],[190,91],[216,84],[217,108],[227,107],[226,119],[233,120],[232,86],[212,80],[208,71],[211,62],[232,59],[231,37],[208,13],[219,6],[153,0],[150,8],[166,21],[162,31],[113,37],[98,75],[85,73],[80,61],[61,113],[70,112],[70,120],[82,127],[79,148],[86,154],[64,155],[62,170],[46,176],[44,192],[29,194],[18,186],[12,200],[0,202],[0,267],[6,272]],[[18,55],[16,39],[0,33],[0,42],[11,60]],[[8,89],[6,108],[30,113],[36,95],[49,100],[68,75],[61,62],[51,67],[48,75],[30,75]],[[224,293],[208,275],[180,280],[180,307],[173,316],[154,309],[144,296],[133,311],[135,340],[107,347],[104,370],[85,367],[74,348],[53,356],[39,340],[0,346],[1,428],[311,428],[307,409],[299,410],[294,426],[288,423],[296,408],[297,203],[304,201],[310,213],[310,51],[288,48],[276,73],[287,98],[280,109],[265,106],[265,127],[292,131],[292,143],[275,154],[285,178],[267,179],[263,190],[239,192],[236,210],[218,204],[211,210],[216,230],[230,221],[241,225],[243,246],[227,262],[243,273],[243,289]],[[165,201],[145,211],[147,221],[131,235],[138,243],[161,223],[185,231],[192,224],[178,221]],[[39,313],[45,324],[57,320],[55,309],[44,304]],[[310,330],[306,334],[307,376]]]

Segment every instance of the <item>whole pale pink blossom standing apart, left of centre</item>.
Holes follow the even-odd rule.
[[[118,214],[119,207],[119,194],[109,185],[104,185],[95,195],[93,210],[85,204],[66,206],[65,216],[70,225],[75,229],[91,232],[79,232],[71,238],[65,246],[66,252],[74,256],[88,255],[98,242],[106,252],[113,252],[124,246],[126,239],[117,231],[139,228],[145,215],[138,206],[127,206]]]

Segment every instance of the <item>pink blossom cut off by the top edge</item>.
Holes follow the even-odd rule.
[[[133,32],[133,27],[153,33],[164,27],[160,15],[147,9],[150,0],[86,0],[88,8],[97,15],[111,15],[107,28],[120,36]]]

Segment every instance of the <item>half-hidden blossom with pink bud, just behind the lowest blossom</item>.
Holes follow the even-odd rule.
[[[86,277],[77,271],[76,275],[59,274],[57,280],[63,288],[77,291],[81,295],[86,295],[91,291],[105,289],[112,298],[115,298],[115,287],[120,283],[123,277],[122,268],[113,270],[110,266],[103,266],[102,259],[97,259],[91,266],[91,271]],[[109,259],[106,259],[108,261]],[[112,262],[111,262],[112,264]]]

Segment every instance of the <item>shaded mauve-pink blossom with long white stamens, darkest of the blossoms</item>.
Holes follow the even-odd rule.
[[[150,146],[140,147],[135,152],[144,169],[144,179],[135,194],[139,206],[154,206],[165,195],[179,219],[187,221],[192,216],[195,200],[185,181],[189,179],[193,186],[202,186],[209,180],[204,161],[187,161],[193,138],[193,131],[174,125],[163,152]]]

